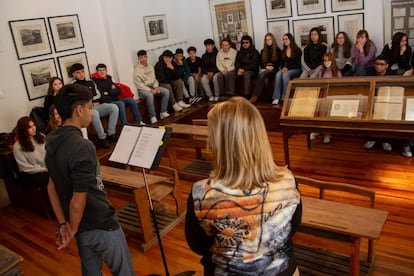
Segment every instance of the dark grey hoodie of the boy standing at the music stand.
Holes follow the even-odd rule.
[[[119,228],[100,177],[95,146],[79,128],[63,126],[46,137],[46,164],[67,221],[73,193],[86,193],[78,233]]]

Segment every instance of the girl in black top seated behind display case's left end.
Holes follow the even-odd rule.
[[[328,51],[328,46],[322,40],[321,30],[317,27],[309,31],[308,45],[303,49],[301,78],[317,78],[322,65],[322,56]]]

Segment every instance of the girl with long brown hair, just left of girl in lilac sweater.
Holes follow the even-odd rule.
[[[353,76],[352,72],[352,43],[345,32],[338,32],[331,46],[331,53],[335,55],[336,65],[344,77]]]

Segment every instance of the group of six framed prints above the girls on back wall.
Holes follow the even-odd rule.
[[[329,0],[296,0],[297,15],[325,14],[326,3]],[[364,0],[330,0],[332,13],[337,16],[339,31],[346,32],[351,40],[354,35],[364,29],[364,14],[349,11],[362,10]],[[325,43],[331,45],[334,39],[334,16],[306,18],[293,20],[293,28],[290,31],[289,18],[292,17],[292,1],[290,0],[265,0],[267,29],[275,35],[277,41],[281,41],[283,34],[293,33],[296,43],[305,47],[309,39],[309,31],[313,27],[319,27]],[[346,12],[346,13],[343,13]],[[283,20],[275,20],[284,18]]]

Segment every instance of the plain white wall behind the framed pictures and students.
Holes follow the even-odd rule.
[[[256,47],[263,46],[267,32],[265,1],[250,0]],[[291,1],[293,19],[297,17],[297,1]],[[326,14],[301,16],[314,18],[332,16],[330,3],[325,0]],[[382,1],[365,0],[365,28],[371,39],[382,49],[383,9]],[[381,8],[378,6],[381,4]],[[24,8],[23,8],[24,7]],[[361,11],[349,11],[357,13]],[[17,60],[8,21],[47,18],[48,16],[78,14],[85,48],[43,57]],[[147,42],[143,16],[165,14],[168,24],[168,39]],[[336,22],[336,19],[335,19]],[[29,114],[33,106],[43,105],[43,99],[29,101],[20,71],[20,64],[43,58],[68,55],[86,51],[91,72],[97,63],[108,65],[109,73],[134,88],[132,72],[139,49],[170,47],[180,43],[184,50],[192,45],[198,54],[204,52],[203,41],[212,37],[208,0],[1,0],[0,9],[0,131],[11,131],[17,119]],[[292,24],[290,24],[292,28]],[[291,31],[293,31],[291,29]],[[337,31],[337,26],[335,26]],[[50,34],[49,34],[50,35]],[[182,43],[185,42],[185,43]],[[158,54],[150,56],[153,63]],[[57,60],[56,60],[57,62]],[[133,89],[135,90],[135,89]]]

